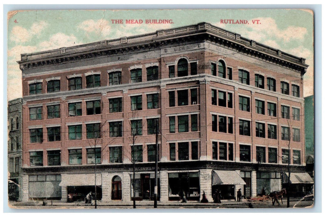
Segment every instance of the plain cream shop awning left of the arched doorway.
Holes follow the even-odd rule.
[[[59,186],[95,185],[95,174],[62,174]],[[96,174],[96,185],[101,185],[101,174]]]

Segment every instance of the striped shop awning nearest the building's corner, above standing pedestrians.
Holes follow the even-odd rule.
[[[236,171],[213,170],[212,185],[246,185],[246,182]]]

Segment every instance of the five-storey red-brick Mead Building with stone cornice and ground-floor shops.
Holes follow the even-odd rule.
[[[95,178],[102,201],[152,200],[156,131],[162,202],[255,196],[288,161],[305,170],[304,58],[198,23],[18,63],[23,200],[83,198]]]

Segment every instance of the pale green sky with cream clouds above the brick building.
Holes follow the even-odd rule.
[[[208,22],[242,37],[303,57],[309,65],[304,75],[304,97],[314,93],[313,13],[306,9],[180,9],[180,10],[34,10],[9,12],[8,100],[22,97],[21,53],[70,47],[100,40],[155,32]],[[122,19],[123,24],[111,20]],[[126,24],[142,19],[142,24]],[[146,19],[172,19],[170,24],[145,24]],[[225,24],[223,19],[249,24]],[[259,20],[253,24],[252,20]]]

